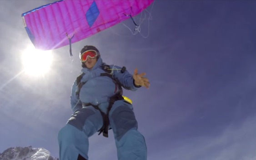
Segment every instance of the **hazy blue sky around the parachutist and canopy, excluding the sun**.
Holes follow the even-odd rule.
[[[0,1],[0,152],[32,145],[58,157],[78,54],[91,44],[105,63],[150,79],[149,90],[124,92],[148,160],[256,159],[256,1],[157,0],[147,39],[118,24],[73,44],[73,63],[68,46],[54,50],[50,72],[32,77],[20,73],[21,52],[31,45],[21,13],[50,2]],[[141,29],[146,35],[147,21]],[[112,131],[90,137],[89,157],[117,160]]]

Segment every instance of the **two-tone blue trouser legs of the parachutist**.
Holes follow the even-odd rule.
[[[110,110],[109,120],[115,136],[118,160],[146,160],[145,139],[137,131],[138,123],[132,105],[116,101]],[[94,107],[76,110],[58,134],[60,160],[88,160],[88,138],[99,131],[102,125],[100,111]]]

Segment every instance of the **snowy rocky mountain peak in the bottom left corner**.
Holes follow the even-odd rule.
[[[11,147],[0,154],[0,160],[59,160],[50,155],[44,148]]]

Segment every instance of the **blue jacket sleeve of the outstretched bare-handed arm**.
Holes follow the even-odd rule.
[[[124,73],[121,73],[121,67],[116,66],[116,65],[110,65],[110,68],[112,69],[112,76],[113,78],[120,82],[122,87],[131,90],[131,91],[136,91],[139,87],[141,86],[136,86],[133,75],[130,74],[127,70],[125,70]]]

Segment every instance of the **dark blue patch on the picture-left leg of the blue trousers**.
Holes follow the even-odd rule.
[[[75,126],[75,128],[83,131],[83,126],[85,125],[85,121],[89,116],[94,115],[95,112],[89,108],[80,108],[76,110],[76,112],[71,116],[68,120],[67,124],[71,126]]]

